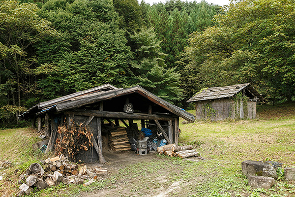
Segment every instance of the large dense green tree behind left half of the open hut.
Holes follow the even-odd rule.
[[[130,48],[112,0],[49,0],[41,15],[59,31],[36,46],[44,99],[127,83]]]

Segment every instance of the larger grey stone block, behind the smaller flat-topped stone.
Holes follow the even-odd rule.
[[[274,179],[278,178],[275,168],[266,162],[259,161],[243,161],[242,162],[242,173],[249,176],[268,176]]]

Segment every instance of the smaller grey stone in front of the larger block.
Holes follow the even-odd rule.
[[[274,178],[267,176],[249,176],[248,184],[254,188],[264,188],[265,190],[271,188],[275,183]]]

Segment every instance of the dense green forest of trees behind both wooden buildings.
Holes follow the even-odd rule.
[[[1,0],[0,127],[39,101],[105,83],[183,108],[202,88],[250,82],[295,96],[295,1]]]

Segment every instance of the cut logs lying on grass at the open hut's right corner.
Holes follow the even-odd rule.
[[[193,149],[192,145],[176,146],[176,144],[168,144],[157,148],[158,154],[165,154],[170,157],[180,157],[182,159],[192,156],[200,156],[200,153],[196,149]]]

